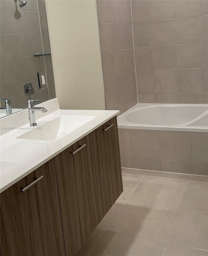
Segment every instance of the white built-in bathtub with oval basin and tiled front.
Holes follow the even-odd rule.
[[[141,104],[118,117],[118,128],[208,132],[208,104]]]

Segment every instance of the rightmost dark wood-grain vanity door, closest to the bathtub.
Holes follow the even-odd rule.
[[[100,216],[103,218],[123,191],[116,117],[93,133]]]

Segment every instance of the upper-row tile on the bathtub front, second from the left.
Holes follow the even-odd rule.
[[[153,130],[131,130],[133,157],[160,158],[159,134]]]

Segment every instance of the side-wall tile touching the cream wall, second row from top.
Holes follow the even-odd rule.
[[[100,28],[101,53],[111,52],[113,50],[111,25],[105,24],[105,23],[100,23],[99,28]]]

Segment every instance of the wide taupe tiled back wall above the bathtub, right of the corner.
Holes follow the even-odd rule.
[[[139,103],[208,103],[208,1],[132,0]]]

